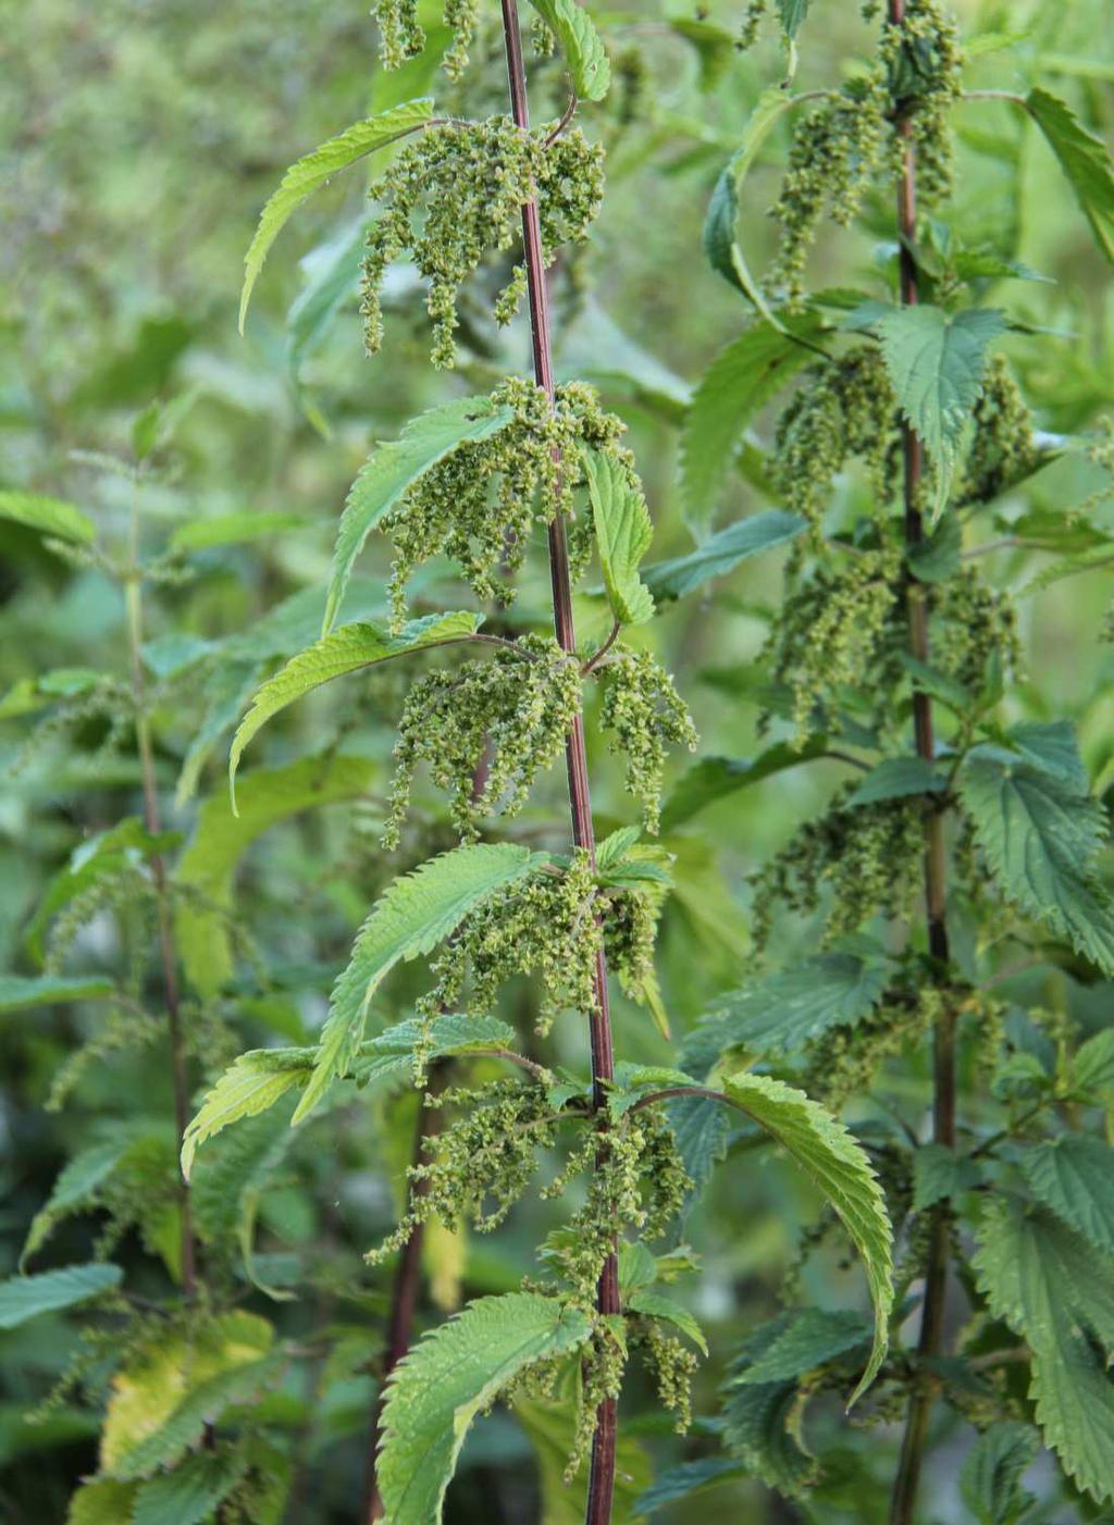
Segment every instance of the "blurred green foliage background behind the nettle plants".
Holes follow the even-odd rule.
[[[1050,79],[1088,125],[1109,140],[1114,128],[1114,20],[1109,0],[1070,6],[963,3],[972,41],[971,81],[1016,87]],[[740,56],[732,44],[739,9],[594,8],[615,56],[626,59],[629,122],[609,110],[583,113],[586,131],[609,145],[609,194],[586,262],[555,282],[559,360],[565,375],[598,384],[629,424],[656,522],[655,557],[682,552],[691,535],[676,491],[678,425],[694,381],[716,351],[749,320],[743,297],[702,259],[700,226],[710,189],[737,146],[758,92],[780,78],[772,41]],[[238,549],[200,557],[195,576],[156,590],[148,608],[148,660],[157,688],[156,746],[166,825],[189,837],[198,802],[223,791],[227,723],[214,721],[208,752],[198,727],[214,718],[212,673],[230,642],[302,589],[327,576],[337,514],[369,445],[391,438],[421,407],[455,390],[490,384],[502,369],[525,369],[522,322],[496,334],[482,293],[468,308],[468,345],[456,375],[429,369],[421,293],[409,273],[392,273],[386,346],[362,352],[351,278],[354,233],[366,218],[362,171],[316,197],[272,253],[256,291],[247,336],[235,331],[243,252],[284,168],[349,120],[429,85],[424,66],[383,76],[374,24],[359,5],[295,0],[66,0],[11,5],[3,21],[5,88],[0,217],[0,486],[26,488],[82,505],[108,543],[127,529],[134,486],[113,467],[128,459],[134,419],[153,401],[177,418],[142,485],[143,546],[154,554],[180,525],[232,511],[284,512],[291,526]],[[476,114],[502,108],[499,56],[481,30],[476,67],[458,95]],[[858,6],[815,0],[801,34],[800,82],[841,76],[868,44]],[[424,72],[423,72],[424,70]],[[436,85],[438,92],[441,84]],[[539,85],[543,116],[557,101],[552,75]],[[1114,403],[1114,300],[1070,192],[1036,136],[992,104],[960,119],[960,194],[949,212],[971,242],[986,241],[1051,278],[1010,293],[1039,334],[1012,337],[1010,358],[1044,429],[1085,435]],[[752,268],[769,250],[765,217],[774,200],[784,142],[748,180],[742,233]],[[871,206],[873,238],[839,232],[824,241],[813,285],[876,285],[893,253],[888,201]],[[308,296],[307,296],[308,293]],[[766,421],[768,422],[768,421]],[[760,430],[761,435],[761,430]],[[1064,506],[1097,485],[1079,454],[1045,470],[1029,503]],[[865,493],[839,485],[850,508]],[[742,476],[717,518],[726,525],[766,506]],[[1010,505],[1003,506],[1009,514]],[[1100,509],[1109,515],[1109,508]],[[90,666],[125,676],[124,605],[102,572],[69,564],[18,526],[0,529],[0,694],[44,669]],[[1019,552],[995,558],[1003,581],[1022,587],[1038,563]],[[369,547],[365,581],[353,598],[382,604],[386,558]],[[1114,759],[1111,648],[1099,640],[1109,602],[1108,569],[1021,599],[1029,671],[1010,700],[1018,715],[1074,717],[1093,776],[1109,782]],[[420,602],[441,599],[447,576],[432,576]],[[458,596],[458,595],[455,595]],[[519,613],[542,618],[542,563],[526,580]],[[675,605],[652,639],[676,674],[702,735],[700,750],[748,756],[755,749],[751,668],[778,599],[774,560],[736,572],[702,599]],[[578,607],[583,636],[603,633],[598,601]],[[275,1040],[299,1040],[324,1013],[333,973],[371,897],[397,866],[438,840],[443,820],[432,791],[420,796],[420,825],[400,865],[377,849],[377,799],[389,770],[395,679],[339,685],[288,711],[258,743],[255,764],[278,766],[340,746],[375,759],[368,798],[276,825],[250,845],[237,878],[235,915],[266,971],[259,985],[243,965],[241,1003],[220,1010],[197,997],[197,1043],[212,1058]],[[26,930],[50,877],[90,834],[134,813],[137,773],[131,741],[99,714],[43,726],[43,715],[0,718],[0,967],[31,971]],[[194,752],[191,753],[191,747]],[[183,764],[197,787],[179,788]],[[671,761],[676,779],[685,759]],[[693,820],[668,846],[678,854],[679,894],[667,915],[661,970],[676,1031],[720,990],[737,982],[748,949],[746,875],[777,848],[839,781],[839,764],[783,773]],[[600,825],[629,819],[615,761],[594,738]],[[557,831],[563,779],[554,773],[523,833]],[[444,837],[447,842],[447,837]],[[406,860],[404,863],[401,860]],[[810,946],[809,926],[786,926],[786,946]],[[130,958],[111,917],[90,923],[67,968],[118,968]],[[255,968],[256,964],[250,967]],[[418,976],[420,978],[420,976]],[[391,987],[398,1010],[415,988]],[[520,993],[530,1013],[530,994]],[[3,1264],[15,1267],[27,1223],[69,1154],[105,1119],[169,1112],[165,1058],[146,1048],[93,1063],[60,1110],[46,1110],[67,1055],[96,1028],[81,1006],[5,1019],[0,1180]],[[554,1037],[563,1061],[583,1061],[583,1034]],[[646,1017],[621,1005],[617,1043],[629,1058],[664,1060],[665,1045]],[[212,1045],[208,1049],[206,1045]],[[549,1051],[552,1052],[552,1051]],[[200,1071],[198,1071],[200,1075]],[[910,1078],[911,1077],[911,1078]],[[916,1066],[906,1084],[923,1084]],[[916,1100],[916,1098],[914,1098]],[[359,1103],[334,1109],[299,1136],[284,1182],[259,1208],[261,1263],[298,1289],[298,1299],[250,1296],[282,1331],[305,1339],[273,1401],[270,1423],[293,1437],[299,1470],[288,1519],[356,1519],[363,1470],[378,1321],[389,1286],[369,1273],[362,1250],[388,1226],[394,1182],[409,1153],[409,1103],[369,1118]],[[699,1379],[703,1412],[734,1345],[775,1308],[778,1286],[812,1197],[780,1164],[743,1154],[720,1171],[713,1196],[693,1215],[690,1238],[702,1255],[699,1286],[687,1295],[710,1327],[714,1356]],[[494,1240],[465,1246],[433,1240],[435,1290],[504,1290],[533,1266],[551,1211],[523,1205]],[[50,1263],[82,1258],[95,1226],[60,1231]],[[160,1284],[157,1261],[128,1240],[139,1284]],[[810,1267],[829,1302],[861,1302],[855,1267]],[[435,1315],[439,1316],[439,1315]],[[322,1330],[328,1339],[322,1344]],[[38,1424],[26,1411],[64,1369],[72,1331],[58,1319],[3,1337],[0,1389],[0,1517],[64,1519],[75,1481],[95,1467],[96,1415],[63,1400]],[[632,1380],[632,1429],[661,1467],[699,1453],[670,1437],[653,1400]],[[879,1478],[893,1464],[890,1432],[858,1438],[836,1412],[816,1420],[864,1446]],[[957,1441],[960,1444],[960,1441]],[[958,1453],[958,1452],[957,1452]],[[952,1469],[954,1470],[954,1469]],[[925,1519],[960,1519],[949,1469],[932,1469]],[[879,1491],[879,1499],[884,1494]],[[688,1505],[691,1510],[693,1505]],[[798,1513],[766,1490],[731,1484],[699,1504],[708,1525],[790,1520]],[[539,1519],[537,1472],[530,1447],[505,1415],[479,1426],[450,1493],[452,1522]],[[826,1501],[823,1517],[874,1520],[881,1502]],[[685,1508],[676,1519],[687,1519]],[[818,1516],[819,1517],[819,1516]]]

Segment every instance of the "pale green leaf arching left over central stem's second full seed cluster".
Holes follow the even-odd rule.
[[[438,461],[444,461],[459,445],[490,439],[513,418],[510,407],[496,407],[487,396],[458,396],[443,407],[433,407],[412,418],[398,439],[380,444],[348,490],[345,511],[340,515],[333,552],[333,578],[320,630],[324,636],[336,624],[353,564],[383,515]]]

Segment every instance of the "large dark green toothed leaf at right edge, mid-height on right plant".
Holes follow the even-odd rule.
[[[986,755],[964,762],[960,796],[1006,898],[1114,974],[1114,909],[1094,872],[1105,837],[1097,801]]]

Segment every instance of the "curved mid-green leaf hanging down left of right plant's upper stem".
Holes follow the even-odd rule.
[[[700,377],[681,432],[681,499],[699,540],[711,529],[731,461],[754,416],[815,360],[800,340],[823,329],[815,314],[786,320],[787,334],[758,323],[716,355]],[[652,587],[653,590],[653,587]]]

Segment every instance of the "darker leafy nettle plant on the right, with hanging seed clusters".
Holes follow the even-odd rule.
[[[766,9],[751,6],[748,46]],[[795,63],[807,5],[774,9]],[[859,1478],[855,1498],[891,1491],[888,1517],[908,1525],[925,1517],[919,1482],[935,1438],[966,1421],[978,1432],[961,1476],[972,1517],[1047,1517],[1021,1485],[1044,1443],[1058,1502],[1093,1519],[1114,1499],[1114,1032],[1080,1032],[1056,970],[1083,984],[1114,973],[1099,872],[1106,810],[1070,723],[1047,711],[1007,718],[1021,697],[1019,589],[989,569],[1027,566],[1001,552],[1050,554],[1025,583],[1035,593],[1100,563],[1102,491],[1018,514],[1016,490],[1073,447],[1105,467],[1111,451],[1100,432],[1041,433],[1025,406],[1001,343],[1054,340],[996,297],[1001,282],[1041,278],[1009,232],[984,247],[948,221],[954,117],[1033,124],[1106,258],[1114,174],[1044,85],[966,90],[958,26],[937,0],[862,11],[877,27],[873,59],[830,90],[771,87],[708,210],[707,253],[757,311],[685,425],[684,485],[705,534],[734,444],[795,377],[768,468],[783,506],[745,522],[754,541],[792,541],[758,695],[760,729],[781,740],[748,770],[699,764],[667,819],[809,758],[853,769],[757,872],[754,974],[685,1040],[682,1066],[703,1075],[748,1057],[836,1112],[874,1103],[859,1136],[897,1232],[896,1324],[913,1334],[891,1345],[862,1421],[900,1423],[902,1441],[890,1476],[887,1452],[806,1443],[804,1405],[844,1391],[867,1330],[847,1313],[787,1310],[728,1377],[723,1453],[662,1496],[731,1475],[734,1459],[806,1513],[839,1508]],[[758,281],[739,214],[783,119],[777,253]],[[826,220],[876,236],[888,221],[873,287],[809,291]],[[845,471],[850,497],[836,490]],[[819,950],[786,967],[763,956],[778,907],[821,929]],[[910,1116],[908,1063],[891,1063],[920,1052],[929,1138]]]

